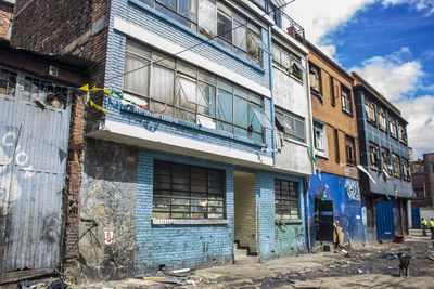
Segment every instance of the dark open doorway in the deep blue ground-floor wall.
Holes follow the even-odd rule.
[[[317,241],[333,241],[333,201],[315,199]]]

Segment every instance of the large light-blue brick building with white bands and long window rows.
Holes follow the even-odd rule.
[[[47,12],[25,2],[17,1],[12,41],[95,62],[89,84],[111,92],[88,95],[100,109],[87,110],[74,194],[80,232],[93,233],[80,239],[79,252],[67,250],[71,253],[66,263],[104,278],[231,263],[234,242],[258,259],[306,250],[307,51],[275,26],[283,23],[276,6],[78,1],[71,22],[41,23],[31,13]],[[54,15],[72,9],[69,1],[46,2]],[[24,29],[28,21],[34,27]],[[292,93],[273,87],[275,66]],[[293,130],[279,146],[277,111]],[[66,242],[75,237],[66,234]]]

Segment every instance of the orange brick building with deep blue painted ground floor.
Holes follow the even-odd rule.
[[[312,245],[333,240],[340,222],[344,242],[362,244],[365,226],[359,189],[358,131],[353,78],[311,43],[309,86],[314,116],[316,174],[309,184]]]

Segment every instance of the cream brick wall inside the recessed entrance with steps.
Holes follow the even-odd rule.
[[[256,178],[237,176],[233,180],[235,240],[257,252],[256,244]]]

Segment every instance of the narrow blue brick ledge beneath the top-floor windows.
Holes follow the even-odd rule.
[[[192,35],[192,36],[194,36],[194,37],[196,37],[196,38],[200,38],[201,41],[206,42],[206,43],[208,43],[209,45],[213,45],[214,48],[216,48],[216,49],[220,50],[221,52],[224,52],[224,53],[226,53],[226,54],[228,54],[228,55],[230,55],[230,56],[237,58],[237,60],[240,61],[240,62],[243,62],[244,64],[246,64],[246,65],[248,65],[248,66],[255,68],[256,70],[258,70],[258,71],[260,71],[260,73],[263,73],[263,74],[265,73],[265,69],[264,69],[263,67],[260,67],[260,66],[258,66],[258,65],[256,65],[256,64],[254,64],[254,63],[252,63],[252,62],[250,62],[250,61],[247,61],[247,60],[245,60],[245,58],[239,56],[238,54],[233,53],[232,51],[230,51],[230,50],[228,50],[228,49],[226,49],[226,48],[224,48],[224,47],[221,47],[220,44],[210,41],[208,38],[203,37],[203,36],[200,35],[199,32],[196,32],[196,31],[194,31],[194,30],[192,30],[192,29],[190,29],[190,28],[183,26],[183,25],[180,24],[179,22],[174,21],[174,19],[171,19],[171,18],[168,18],[168,16],[166,16],[165,14],[163,14],[163,13],[156,11],[155,9],[153,9],[153,8],[149,6],[149,5],[146,5],[145,3],[141,2],[140,0],[128,0],[128,2],[129,2],[129,3],[132,3],[133,5],[136,5],[136,6],[138,6],[138,8],[140,8],[140,9],[143,9],[143,10],[145,10],[145,11],[148,11],[148,12],[150,12],[150,13],[156,15],[156,16],[159,17],[161,19],[170,23],[171,25],[176,26],[177,28],[179,28],[179,29],[181,29],[181,30],[183,30],[183,31],[186,31],[186,32],[188,32],[188,34],[190,34],[190,35]],[[264,62],[264,58],[263,58],[263,62]]]

